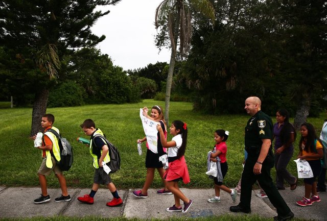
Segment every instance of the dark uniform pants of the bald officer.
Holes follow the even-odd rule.
[[[279,194],[277,188],[272,182],[270,177],[270,170],[274,165],[273,157],[268,157],[262,164],[261,174],[254,175],[253,174],[253,166],[258,159],[258,156],[248,155],[244,170],[242,174],[242,191],[241,191],[241,199],[240,206],[244,209],[251,208],[251,193],[252,193],[252,185],[258,180],[260,186],[266,192],[271,204],[276,208],[277,214],[280,216],[287,215],[291,210],[285,203],[281,194]]]

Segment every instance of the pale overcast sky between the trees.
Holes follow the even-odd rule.
[[[97,48],[124,70],[145,67],[157,61],[169,63],[170,51],[162,48],[159,53],[154,44],[154,15],[161,1],[122,0],[115,6],[97,8],[110,10],[91,28],[94,34],[106,36]]]

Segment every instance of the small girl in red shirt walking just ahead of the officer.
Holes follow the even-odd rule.
[[[213,149],[213,153],[210,156],[210,160],[213,162],[217,162],[216,157],[220,158],[220,168],[222,177],[224,178],[227,174],[228,165],[227,165],[227,145],[226,140],[228,138],[229,132],[225,130],[217,130],[214,134],[214,139],[216,141],[216,145]],[[224,190],[230,194],[231,200],[234,203],[237,199],[237,191],[235,189],[229,189],[227,186],[223,185],[223,182],[218,182],[217,177],[214,177],[215,183],[215,193],[216,197],[208,199],[210,203],[220,203],[220,190]]]

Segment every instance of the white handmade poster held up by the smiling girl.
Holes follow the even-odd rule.
[[[157,147],[157,145],[158,145],[158,143],[157,143],[157,140],[158,140],[157,124],[158,124],[158,122],[143,116],[142,108],[139,109],[139,117],[141,117],[143,130],[144,130],[145,136],[147,137],[148,148],[150,151],[157,154],[158,153],[158,147]]]

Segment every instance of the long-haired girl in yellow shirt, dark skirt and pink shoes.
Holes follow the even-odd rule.
[[[322,145],[319,138],[316,136],[315,129],[312,124],[303,123],[300,128],[301,139],[299,143],[298,159],[307,160],[310,164],[313,177],[305,178],[305,197],[297,201],[299,206],[311,206],[314,202],[320,202],[317,194],[316,178],[321,171],[321,158],[323,156]],[[312,193],[311,197],[310,194]]]

